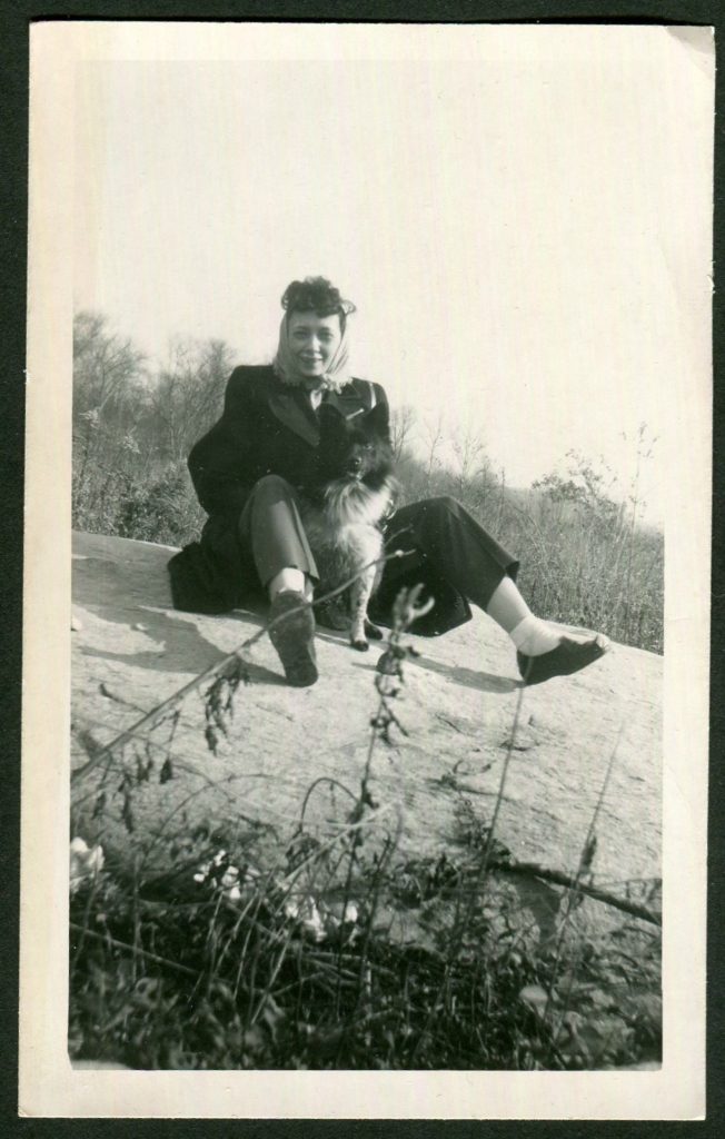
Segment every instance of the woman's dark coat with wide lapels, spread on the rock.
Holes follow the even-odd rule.
[[[351,380],[339,394],[330,392],[327,402],[346,417],[373,405],[388,408],[385,390],[363,379]],[[319,442],[318,417],[300,388],[278,379],[271,364],[234,369],[221,419],[189,456],[191,481],[208,518],[200,542],[168,563],[175,608],[226,613],[261,599],[250,551],[239,541],[239,516],[265,475],[280,475],[296,487],[312,483]],[[415,577],[425,574],[417,571]],[[452,587],[437,576],[423,583],[435,589],[436,606],[434,620],[423,620],[415,632],[445,632],[468,620],[468,604]],[[385,584],[381,597],[390,593]],[[376,612],[376,618],[386,623],[386,613]]]

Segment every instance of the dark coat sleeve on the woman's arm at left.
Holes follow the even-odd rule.
[[[238,513],[254,485],[250,469],[253,385],[237,368],[226,385],[222,418],[191,449],[189,473],[207,514]]]

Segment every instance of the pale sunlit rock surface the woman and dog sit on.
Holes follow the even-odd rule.
[[[223,617],[173,611],[165,568],[172,552],[74,536],[75,767],[88,761],[89,747],[130,728],[261,626],[258,616],[239,611]],[[377,746],[371,782],[380,826],[399,827],[405,854],[450,850],[462,797],[491,819],[514,732],[496,835],[516,859],[576,870],[616,748],[596,826],[598,880],[659,876],[660,657],[612,645],[583,673],[522,691],[513,649],[484,614],[443,638],[409,639],[421,655],[406,664],[395,702],[407,736]],[[339,823],[365,765],[379,654],[376,644],[360,654],[343,634],[320,629],[320,680],[294,689],[264,637],[217,754],[205,744],[203,699],[192,694],[178,722],[156,729],[150,745],[139,738],[125,751],[137,773],[153,760],[133,796],[131,833],[123,796],[99,813],[100,790],[110,800],[118,785],[117,773],[104,782],[100,769],[74,784],[76,833],[102,841],[112,857],[141,844],[153,858],[171,828],[223,819],[279,846],[299,822],[305,796],[307,825],[322,833]],[[160,782],[167,756],[173,778]]]

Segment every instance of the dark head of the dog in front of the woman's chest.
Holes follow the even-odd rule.
[[[370,482],[382,480],[393,469],[393,454],[386,435],[385,408],[378,404],[352,419],[336,408],[320,408],[320,480]]]

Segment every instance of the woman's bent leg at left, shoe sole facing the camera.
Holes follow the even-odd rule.
[[[311,601],[318,567],[297,497],[286,480],[278,475],[259,480],[241,513],[239,536],[269,592],[270,640],[287,680],[298,688],[314,685],[318,666]]]

